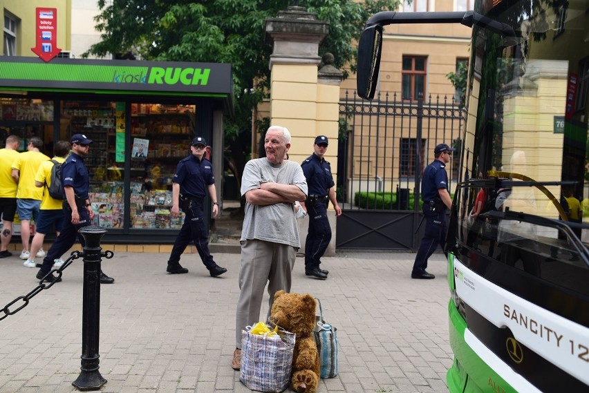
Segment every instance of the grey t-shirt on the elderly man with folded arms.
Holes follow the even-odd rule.
[[[256,158],[248,161],[241,178],[241,196],[245,195],[247,191],[259,189],[262,182],[294,184],[305,195],[308,194],[303,170],[294,161],[284,161],[280,165],[271,164],[268,158]],[[292,203],[277,203],[259,206],[245,202],[241,241],[252,239],[290,245],[299,249],[301,241],[294,216],[294,205]]]

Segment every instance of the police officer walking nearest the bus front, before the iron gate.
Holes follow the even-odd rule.
[[[436,160],[433,160],[423,171],[421,199],[423,201],[424,220],[426,220],[425,233],[415,256],[411,278],[436,278],[425,269],[427,268],[427,259],[433,251],[436,251],[438,243],[443,249],[444,237],[448,231],[446,209],[451,209],[452,199],[448,191],[446,164],[450,162],[453,151],[454,148],[447,144],[438,144],[433,149],[433,157]]]

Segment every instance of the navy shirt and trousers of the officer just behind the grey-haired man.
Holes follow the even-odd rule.
[[[305,271],[319,269],[321,256],[331,240],[331,227],[327,218],[328,191],[334,186],[331,166],[315,153],[301,164],[309,188],[305,201],[309,217],[309,231],[305,242]]]

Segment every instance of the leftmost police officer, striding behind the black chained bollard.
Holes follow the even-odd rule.
[[[50,272],[53,267],[53,262],[56,259],[71,249],[75,243],[75,238],[78,236],[82,247],[84,246],[84,238],[78,229],[90,225],[94,218],[94,211],[88,199],[88,189],[90,188],[90,176],[88,169],[84,165],[84,157],[90,151],[90,144],[92,140],[86,135],[75,134],[71,137],[72,151],[67,157],[66,162],[62,165],[62,183],[64,184],[64,192],[66,200],[64,200],[64,224],[59,232],[59,236],[55,239],[55,243],[51,245],[47,255],[43,259],[41,269],[37,273],[39,280],[43,279]],[[50,274],[45,281],[59,282],[61,277]],[[100,271],[100,282],[102,284],[112,284],[115,282],[114,278],[106,276]]]

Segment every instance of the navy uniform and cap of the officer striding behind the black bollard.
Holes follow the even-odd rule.
[[[71,138],[72,144],[91,144],[93,141],[88,139],[85,135],[75,134]],[[88,191],[90,190],[90,175],[86,165],[84,164],[84,158],[76,153],[70,153],[66,158],[66,162],[62,165],[62,184],[64,186],[72,186],[75,194],[75,204],[77,207],[77,213],[80,215],[80,222],[72,224],[72,209],[68,204],[67,200],[64,200],[64,222],[63,226],[59,230],[59,236],[55,239],[53,245],[47,251],[47,255],[43,259],[43,264],[37,278],[48,274],[53,266],[53,262],[56,259],[61,258],[75,243],[76,237],[82,243],[82,247],[85,246],[84,237],[78,233],[78,230],[82,227],[87,227],[91,224],[90,214],[88,213]],[[100,271],[100,282],[102,284],[111,284],[115,280],[106,276]]]

